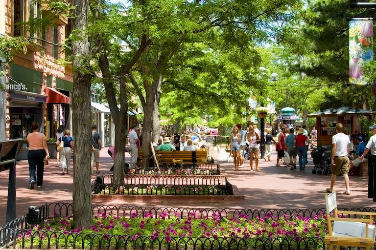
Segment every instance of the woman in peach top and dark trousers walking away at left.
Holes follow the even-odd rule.
[[[37,184],[37,187],[43,187],[44,161],[48,160],[49,152],[46,136],[39,132],[39,124],[33,122],[31,124],[31,129],[33,132],[29,133],[26,137],[26,140],[29,143],[27,161],[29,163],[29,188],[34,189],[35,183]]]

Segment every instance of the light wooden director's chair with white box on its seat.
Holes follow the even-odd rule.
[[[328,232],[325,235],[325,243],[329,244],[329,249],[333,246],[364,247],[369,250],[375,244],[375,226],[372,225],[374,212],[342,211],[337,209],[335,192],[325,195],[327,208]],[[334,210],[334,217],[330,215]],[[340,218],[338,214],[347,214],[352,218]],[[368,217],[354,218],[354,216]],[[332,224],[333,222],[333,224]]]

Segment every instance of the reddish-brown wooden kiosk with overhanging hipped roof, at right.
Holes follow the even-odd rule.
[[[331,137],[335,134],[335,125],[341,123],[347,135],[355,133],[365,133],[361,131],[360,116],[376,115],[376,111],[360,108],[329,108],[323,111],[310,113],[307,117],[316,118],[317,145],[331,145]]]

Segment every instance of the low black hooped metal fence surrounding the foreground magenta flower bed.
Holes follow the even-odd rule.
[[[376,208],[339,208],[345,211],[375,212]],[[39,248],[39,249],[177,249],[177,250],[325,250],[323,237],[279,237],[279,238],[188,238],[188,237],[153,237],[140,235],[108,235],[85,234],[67,231],[33,230],[29,226],[32,217],[37,218],[36,223],[43,224],[47,218],[61,215],[71,215],[72,204],[51,203],[45,204],[33,211],[38,211],[36,216],[24,215],[0,227],[0,248]],[[135,214],[144,218],[147,216],[157,218],[162,213],[166,218],[212,218],[214,214],[221,217],[239,218],[246,214],[250,217],[264,216],[302,216],[313,218],[325,213],[325,208],[316,209],[231,209],[231,208],[164,208],[164,207],[133,207],[133,206],[102,206],[93,205],[93,213],[112,213],[114,215],[132,218]],[[343,214],[342,214],[343,215]],[[347,215],[350,217],[350,215]]]

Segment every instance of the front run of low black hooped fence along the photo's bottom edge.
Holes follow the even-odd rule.
[[[21,249],[132,249],[132,250],[325,250],[323,237],[153,237],[45,230],[6,230],[8,248]]]

